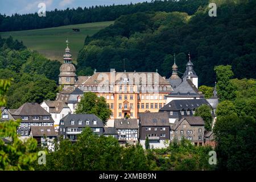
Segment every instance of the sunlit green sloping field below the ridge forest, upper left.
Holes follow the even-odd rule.
[[[62,60],[66,47],[65,40],[69,40],[69,48],[73,60],[76,63],[77,55],[84,45],[84,39],[87,35],[91,36],[97,31],[112,24],[113,22],[96,22],[85,24],[74,24],[61,27],[43,28],[26,31],[0,32],[2,38],[9,35],[14,39],[22,40],[23,44],[33,50],[36,50],[48,59]],[[80,28],[80,32],[73,32],[72,28]]]

